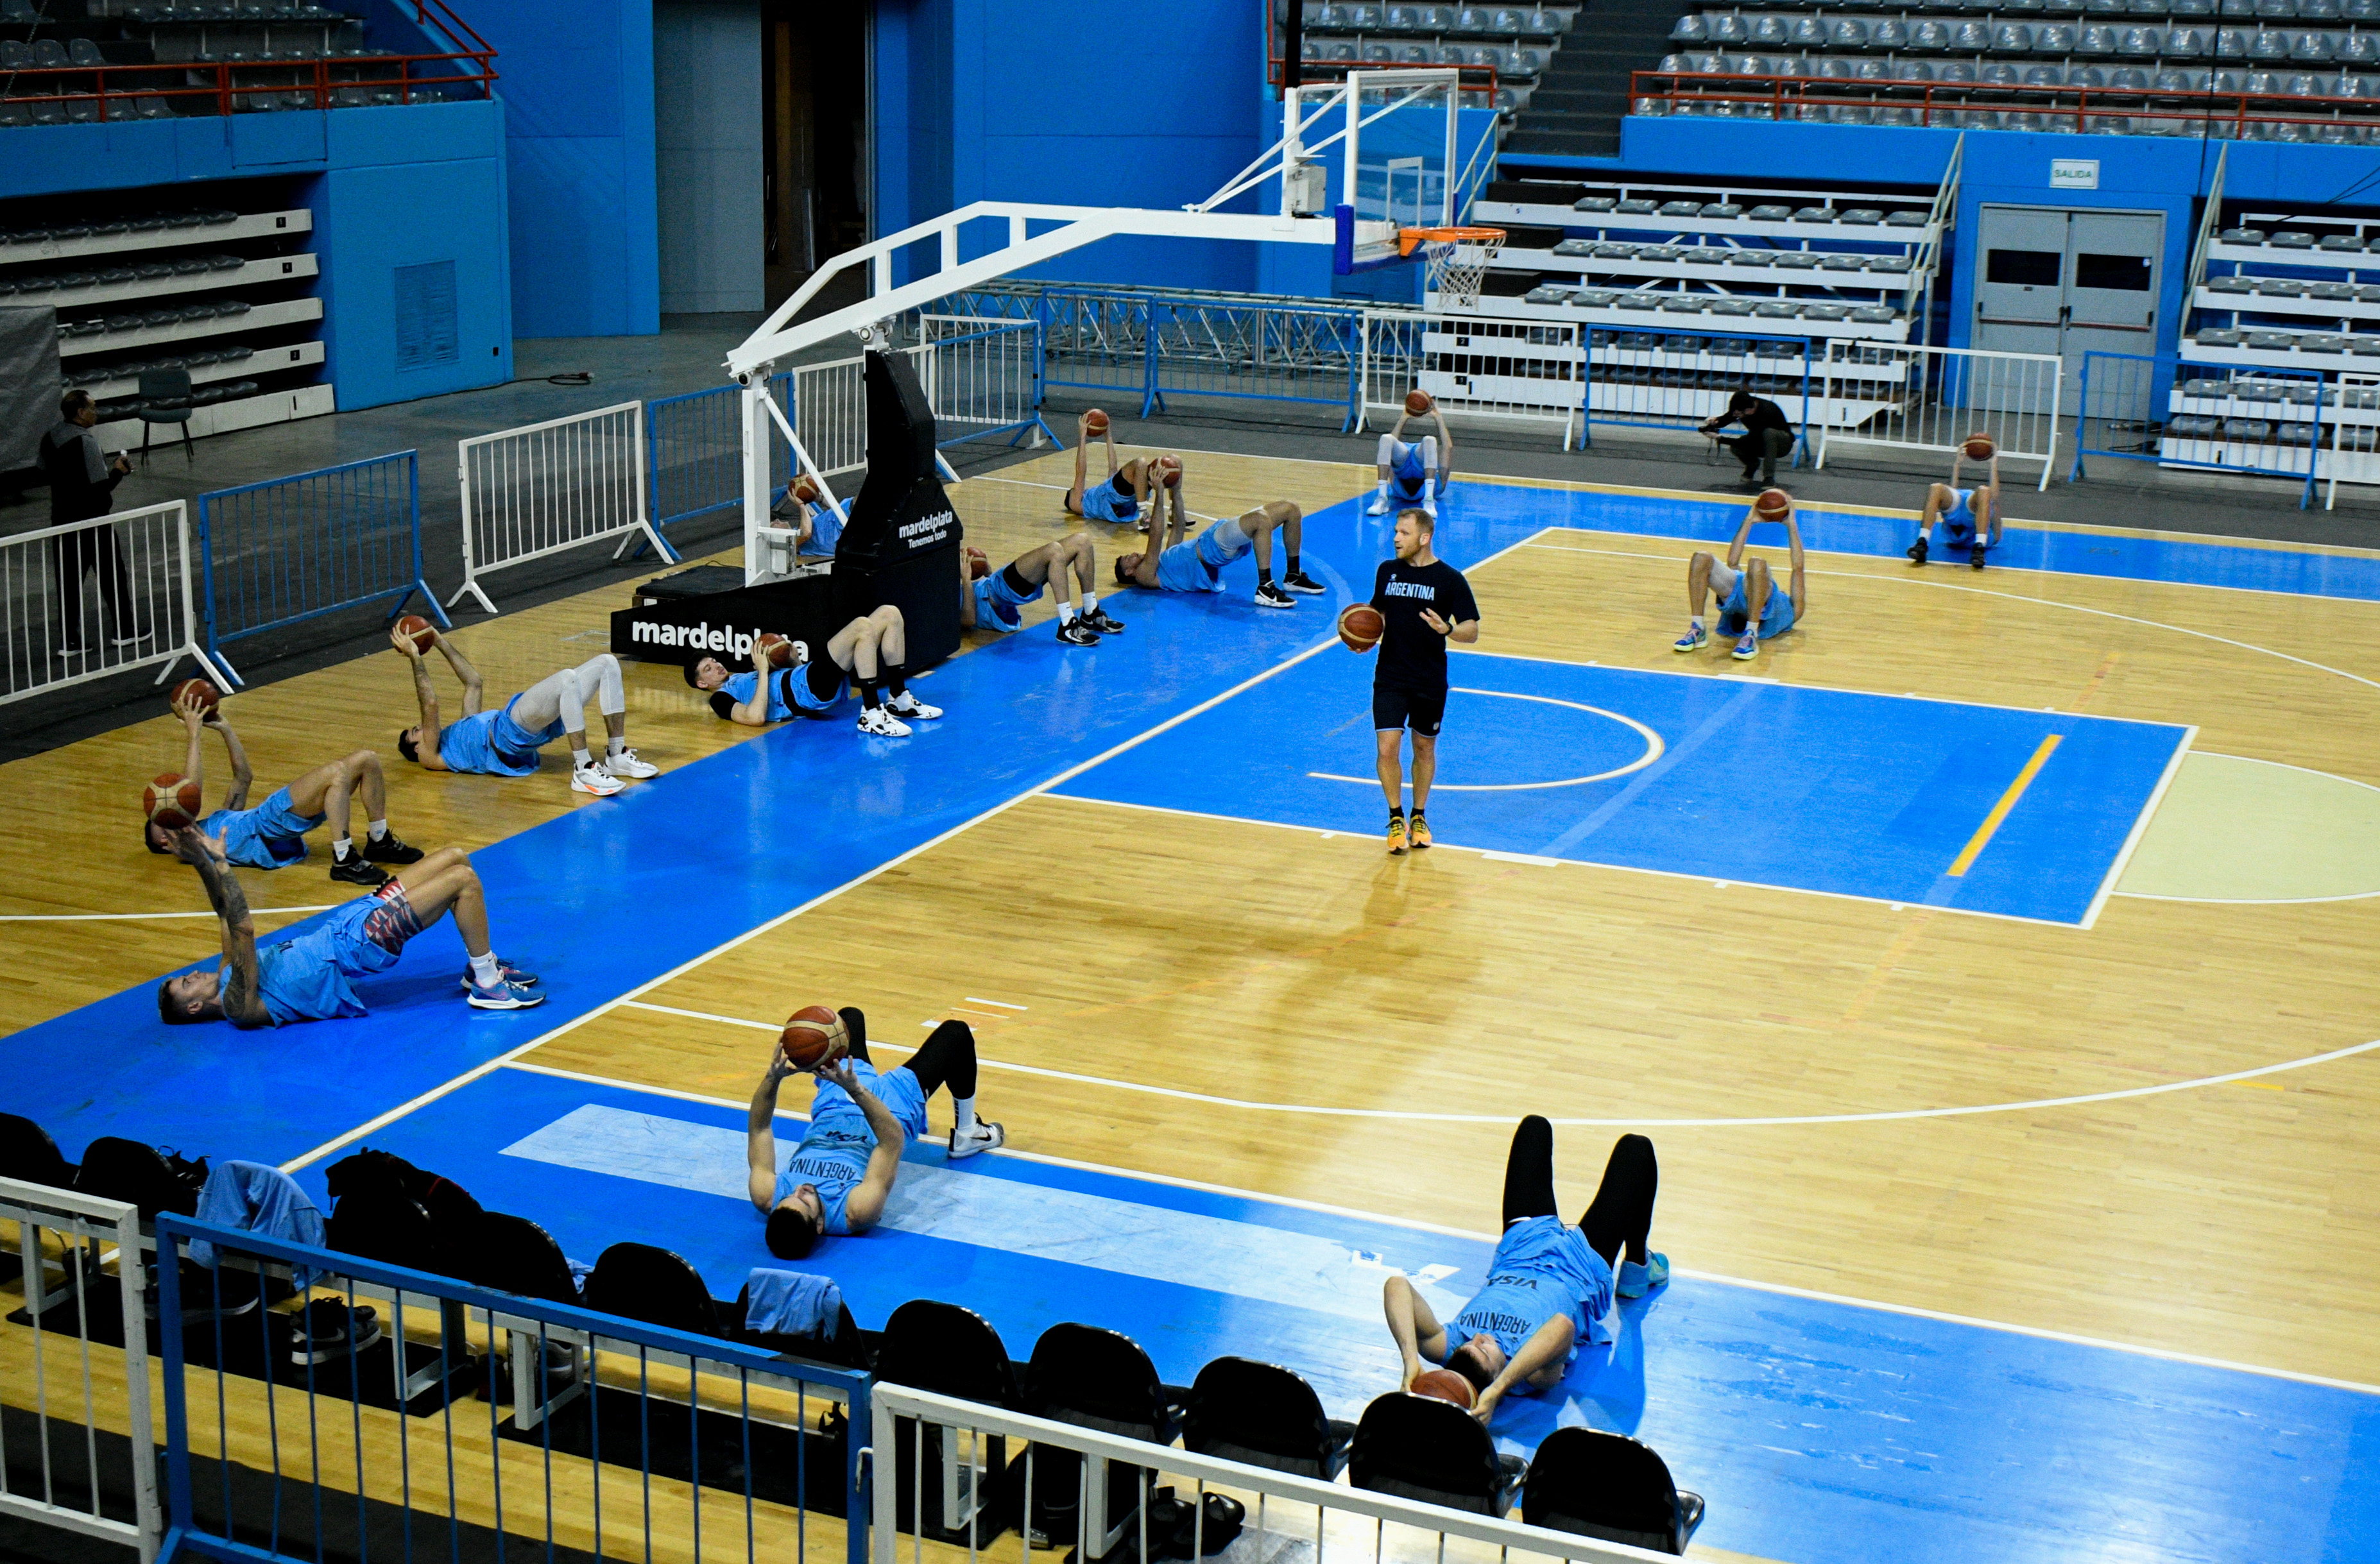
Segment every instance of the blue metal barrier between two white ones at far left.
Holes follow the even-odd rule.
[[[207,657],[231,683],[240,676],[224,657],[226,640],[374,602],[388,602],[395,619],[414,593],[447,621],[421,578],[419,455],[400,450],[198,498]]]

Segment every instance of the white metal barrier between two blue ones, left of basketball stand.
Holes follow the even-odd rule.
[[[619,538],[616,559],[643,536],[662,559],[678,557],[645,505],[643,402],[457,440],[455,476],[462,486],[462,586],[447,607],[469,595],[493,614],[495,600],[481,576],[581,543]]]

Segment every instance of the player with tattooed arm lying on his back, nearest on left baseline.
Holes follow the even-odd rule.
[[[224,845],[198,826],[174,833],[174,857],[198,869],[224,931],[224,964],[186,971],[157,986],[157,1014],[167,1026],[231,1021],[233,1026],[288,1026],[359,1016],[352,978],[388,971],[405,943],[455,914],[455,933],[469,966],[464,997],[474,1009],[528,1009],[545,995],[531,993],[536,976],[495,959],[488,947],[488,897],[462,847],[440,847],[371,895],[333,912],[319,928],[257,950],[257,926],[248,895],[224,859]]]

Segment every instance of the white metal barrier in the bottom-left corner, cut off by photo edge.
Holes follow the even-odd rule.
[[[178,509],[178,507],[176,507]],[[26,1331],[0,1333],[10,1400],[31,1397],[38,1454],[0,1447],[0,1514],[119,1543],[157,1557],[164,1526],[157,1509],[157,1457],[150,1435],[148,1300],[140,1266],[140,1212],[121,1200],[95,1200],[40,1183],[0,1178],[0,1221],[17,1224],[24,1266]],[[52,1247],[43,1235],[55,1238]],[[100,1288],[105,1250],[117,1255],[114,1297]],[[60,1281],[50,1281],[57,1269]],[[124,1345],[105,1340],[105,1316],[121,1321]],[[93,1328],[102,1340],[93,1347]],[[133,1519],[105,1514],[100,1433],[131,1440]],[[114,1440],[109,1440],[114,1445]],[[79,1454],[81,1474],[60,1471],[60,1454]],[[17,1488],[10,1469],[38,1466],[38,1488]],[[81,1476],[81,1481],[76,1481]]]

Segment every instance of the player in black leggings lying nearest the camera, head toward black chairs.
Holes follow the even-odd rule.
[[[1535,1114],[1521,1119],[1504,1157],[1504,1235],[1488,1259],[1485,1285],[1447,1324],[1438,1324],[1402,1271],[1380,1290],[1388,1333],[1404,1355],[1402,1388],[1414,1385],[1423,1364],[1445,1364],[1473,1383],[1473,1416],[1485,1424],[1507,1395],[1561,1383],[1580,1340],[1611,1340],[1604,1316],[1614,1293],[1642,1297],[1668,1281],[1668,1255],[1645,1247],[1659,1188],[1652,1140],[1621,1136],[1595,1205],[1576,1228],[1564,1226],[1554,1205],[1554,1126]]]

